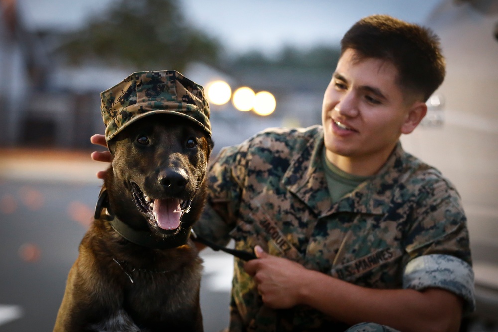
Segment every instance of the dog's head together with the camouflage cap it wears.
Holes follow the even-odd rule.
[[[114,155],[104,181],[111,210],[155,238],[188,238],[213,146],[203,88],[176,71],[137,72],[101,98]]]

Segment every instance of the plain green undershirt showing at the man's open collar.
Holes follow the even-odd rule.
[[[339,201],[344,195],[352,192],[360,183],[369,178],[368,176],[352,175],[340,170],[327,159],[325,149],[323,150],[322,161],[332,203]]]

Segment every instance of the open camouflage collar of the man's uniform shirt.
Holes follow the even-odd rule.
[[[336,212],[382,215],[387,213],[399,177],[404,168],[404,151],[398,143],[387,162],[373,177],[335,204],[327,188],[321,160],[323,132],[318,133],[290,162],[282,181],[287,189],[310,207],[318,217]]]

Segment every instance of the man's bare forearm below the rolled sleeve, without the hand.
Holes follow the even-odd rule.
[[[339,321],[375,322],[403,332],[459,329],[462,300],[448,291],[371,289],[316,271],[307,270],[305,275],[299,288],[300,302]]]

